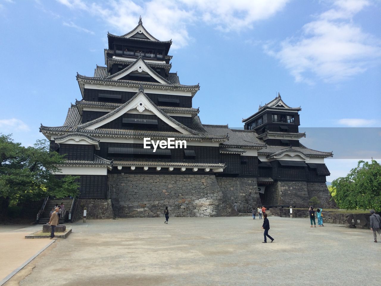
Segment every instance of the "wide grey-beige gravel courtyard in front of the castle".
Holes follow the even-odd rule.
[[[73,223],[9,285],[379,285],[381,239],[309,219],[251,217]],[[2,258],[4,259],[4,258]],[[56,273],[56,275],[52,275]],[[7,283],[8,283],[7,282]],[[8,284],[5,284],[7,286]]]

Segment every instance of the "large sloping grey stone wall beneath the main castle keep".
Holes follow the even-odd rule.
[[[117,217],[159,217],[166,206],[170,216],[223,216],[259,199],[255,178],[215,175],[110,174],[109,191]]]

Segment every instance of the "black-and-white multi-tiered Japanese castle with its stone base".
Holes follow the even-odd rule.
[[[111,200],[119,217],[226,215],[259,205],[329,204],[324,159],[299,142],[301,108],[280,94],[242,120],[243,130],[200,121],[192,99],[199,84],[183,85],[171,72],[172,41],[143,26],[107,34],[104,66],[77,74],[82,100],[62,126],[41,125],[52,152],[66,154],[65,175],[79,175],[79,200]],[[259,100],[259,99],[258,99]],[[228,107],[226,107],[228,108]],[[242,117],[242,114],[237,114]],[[150,140],[186,141],[186,148],[144,148]]]

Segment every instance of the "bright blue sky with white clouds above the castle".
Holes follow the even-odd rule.
[[[302,107],[301,131],[374,127],[358,148],[380,158],[380,14],[376,0],[0,0],[0,132],[32,145],[40,123],[62,125],[81,99],[76,72],[104,65],[107,31],[125,34],[141,15],[154,37],[172,39],[181,83],[200,83],[193,106],[203,123],[242,127],[280,92]],[[328,180],[355,166],[327,165]]]

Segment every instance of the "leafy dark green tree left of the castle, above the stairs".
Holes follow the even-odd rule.
[[[78,183],[67,176],[57,179],[56,164],[64,161],[57,152],[49,152],[47,140],[37,140],[34,146],[14,143],[11,135],[0,135],[0,215],[6,216],[10,203],[38,200],[60,192],[78,193]],[[71,185],[70,185],[71,183]]]

